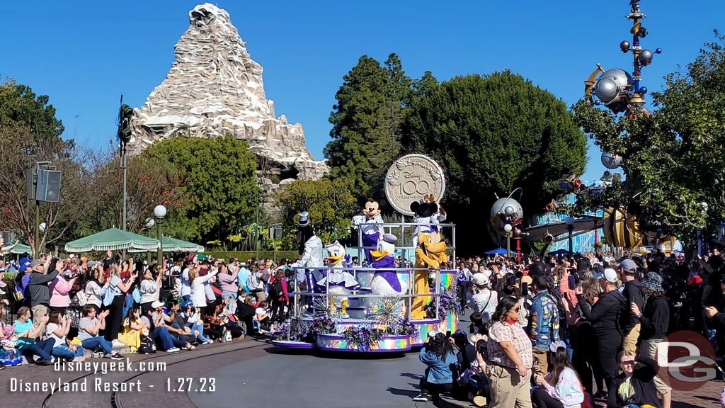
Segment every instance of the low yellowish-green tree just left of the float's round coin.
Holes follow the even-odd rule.
[[[355,197],[343,180],[296,180],[275,199],[286,227],[293,229],[299,220],[297,214],[308,211],[310,223],[323,242],[346,237],[357,210]]]

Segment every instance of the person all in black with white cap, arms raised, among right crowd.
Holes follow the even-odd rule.
[[[617,272],[614,269],[605,269],[603,273],[595,274],[601,280],[602,290],[597,303],[589,309],[589,303],[584,299],[581,287],[576,288],[576,298],[581,305],[581,313],[592,322],[597,338],[599,362],[607,384],[607,392],[612,393],[612,381],[617,375],[617,352],[622,346],[621,327],[619,319],[625,311],[626,301],[616,287]],[[628,311],[628,310],[627,310]]]

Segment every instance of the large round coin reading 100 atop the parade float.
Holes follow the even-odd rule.
[[[436,201],[443,198],[446,179],[443,169],[425,155],[405,155],[390,166],[385,176],[385,196],[388,203],[399,213],[413,216],[410,203],[426,195]]]

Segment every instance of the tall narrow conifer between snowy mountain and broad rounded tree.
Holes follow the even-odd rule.
[[[386,68],[363,55],[343,80],[330,115],[333,140],[324,152],[331,178],[349,182],[365,200],[381,194],[383,176],[399,155],[397,133],[410,78],[397,55],[390,54]]]

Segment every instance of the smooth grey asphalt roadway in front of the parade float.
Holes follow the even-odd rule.
[[[405,407],[418,395],[425,366],[418,353],[305,353],[268,348],[268,355],[206,373],[217,391],[190,392],[199,408]]]

